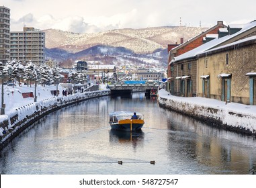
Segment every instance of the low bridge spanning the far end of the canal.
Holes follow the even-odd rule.
[[[152,89],[158,89],[159,85],[157,83],[134,83],[134,84],[127,84],[127,83],[116,83],[114,85],[108,85],[111,94],[123,94],[123,93],[132,93],[134,91],[145,91],[150,94]]]

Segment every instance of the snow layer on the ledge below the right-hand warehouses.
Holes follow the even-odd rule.
[[[159,91],[159,102],[172,106],[181,111],[189,111],[203,115],[206,118],[222,120],[224,124],[234,127],[243,127],[256,130],[256,105],[243,105],[240,103],[227,103],[216,99],[204,97],[177,97],[164,89]],[[167,100],[161,100],[167,99]]]

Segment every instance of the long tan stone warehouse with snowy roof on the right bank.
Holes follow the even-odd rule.
[[[234,101],[237,103],[253,104],[255,103],[255,50],[249,50],[249,60],[251,66],[243,66],[243,68],[234,68],[235,64],[245,65],[245,50],[241,53],[232,54],[232,48],[236,48],[234,52],[239,52],[242,40],[249,40],[250,37],[256,35],[256,21],[241,25],[230,25],[226,30],[220,28],[218,37],[214,40],[206,42],[194,50],[190,50],[180,56],[176,56],[171,60],[171,93],[183,97],[200,96],[220,99],[222,101]],[[236,45],[232,45],[233,43]],[[231,45],[231,47],[225,47]],[[245,46],[245,45],[244,45]],[[224,53],[212,55],[213,52],[220,52],[220,48]],[[253,48],[255,49],[255,48]],[[204,54],[204,58],[202,58]],[[233,67],[232,69],[230,67]],[[243,77],[237,76],[237,71],[243,69]],[[247,74],[247,77],[245,75]],[[233,75],[233,76],[232,76]],[[234,77],[235,75],[235,77]],[[241,75],[241,74],[240,74]],[[247,79],[245,79],[247,78]],[[235,82],[231,79],[237,80]],[[239,80],[246,81],[247,84],[239,84]],[[243,92],[239,94],[239,88]]]

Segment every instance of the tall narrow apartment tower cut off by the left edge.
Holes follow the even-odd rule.
[[[10,9],[0,6],[0,61],[10,60]]]

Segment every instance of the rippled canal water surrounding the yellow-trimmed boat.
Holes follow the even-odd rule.
[[[143,113],[142,132],[111,130],[112,111]],[[90,99],[55,111],[0,152],[1,174],[241,175],[255,169],[252,137],[163,109],[144,93]]]

